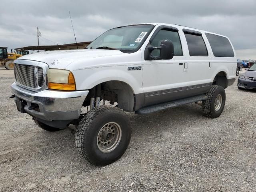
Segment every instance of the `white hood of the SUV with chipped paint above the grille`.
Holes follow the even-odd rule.
[[[82,49],[82,50],[59,50],[46,51],[24,55],[18,59],[34,60],[48,64],[49,68],[65,69],[75,60],[86,60],[88,58],[105,57],[127,54],[119,50]]]

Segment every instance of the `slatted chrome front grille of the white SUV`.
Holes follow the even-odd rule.
[[[37,88],[38,83],[39,87],[44,86],[44,72],[41,67],[38,67],[38,82],[35,78],[35,66],[15,64],[14,72],[16,81],[21,85]]]

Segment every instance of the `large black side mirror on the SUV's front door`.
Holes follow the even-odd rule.
[[[160,57],[154,57],[151,52],[155,49],[160,50]],[[147,46],[144,54],[145,60],[154,60],[154,59],[172,59],[174,56],[174,46],[171,40],[162,40],[160,47]]]

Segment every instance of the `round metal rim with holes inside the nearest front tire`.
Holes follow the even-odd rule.
[[[97,146],[100,151],[109,153],[119,144],[122,130],[118,123],[108,122],[100,129],[97,136]]]

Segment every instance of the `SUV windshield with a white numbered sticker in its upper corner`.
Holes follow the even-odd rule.
[[[153,25],[132,25],[114,28],[96,38],[87,49],[118,49],[135,51],[143,44]]]

